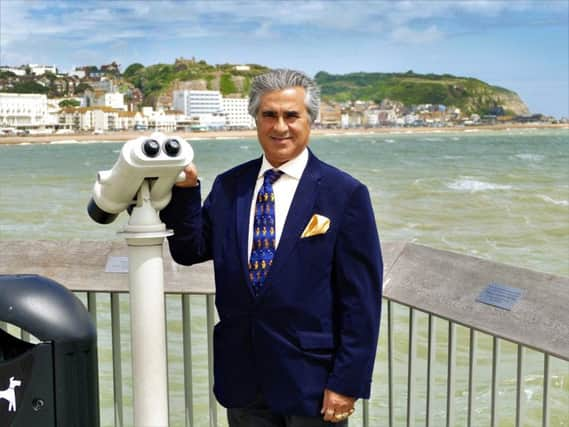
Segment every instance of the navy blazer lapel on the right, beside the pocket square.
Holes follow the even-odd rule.
[[[314,203],[316,202],[318,194],[318,184],[320,182],[319,164],[320,161],[309,151],[308,164],[298,183],[292,204],[288,211],[279,246],[275,252],[273,265],[267,278],[268,282],[270,282],[271,277],[277,274],[279,269],[285,265],[288,254],[300,240],[302,230],[313,214]]]

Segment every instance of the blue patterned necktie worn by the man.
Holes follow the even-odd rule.
[[[261,292],[275,256],[275,193],[273,192],[273,184],[282,174],[281,171],[267,170],[263,185],[255,201],[253,247],[249,261],[249,281],[255,296]]]

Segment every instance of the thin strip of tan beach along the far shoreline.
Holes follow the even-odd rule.
[[[350,128],[350,129],[312,129],[313,135],[365,135],[365,134],[412,134],[412,133],[441,133],[441,132],[476,132],[476,131],[504,131],[510,129],[568,129],[569,124],[500,124],[484,126],[449,126],[444,128],[436,127],[381,127],[381,128]],[[93,133],[66,133],[50,135],[23,135],[23,136],[0,136],[0,144],[49,144],[52,142],[123,142],[140,136],[149,135],[153,131],[113,131],[102,134]],[[255,138],[257,131],[251,130],[229,130],[229,131],[209,131],[209,132],[165,132],[176,134],[182,138],[192,139],[241,139]]]

